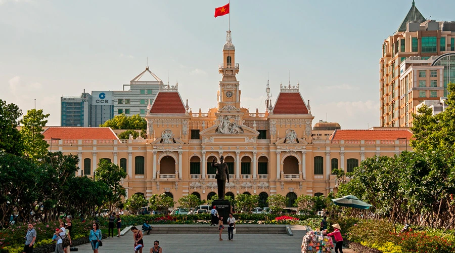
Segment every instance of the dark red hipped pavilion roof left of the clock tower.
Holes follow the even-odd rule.
[[[153,101],[150,113],[185,113],[185,106],[181,102],[178,92],[158,92]]]

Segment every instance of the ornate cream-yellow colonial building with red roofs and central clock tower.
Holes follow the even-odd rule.
[[[330,138],[313,139],[321,130],[311,129],[314,117],[298,83],[281,86],[275,104],[265,112],[250,112],[241,106],[235,57],[228,31],[219,64],[218,103],[206,112],[192,112],[177,85],[161,85],[145,116],[147,139],[119,140],[109,128],[48,128],[45,139],[53,151],[79,156],[78,175],[92,176],[99,160],[108,159],[127,172],[127,196],[166,193],[174,200],[214,195],[211,162],[221,155],[230,172],[226,195],[258,194],[264,201],[282,194],[292,202],[301,194],[333,191],[337,185],[332,168],[350,172],[367,157],[406,149],[412,136],[407,129],[340,130],[337,124]]]

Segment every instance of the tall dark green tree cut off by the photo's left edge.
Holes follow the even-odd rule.
[[[0,151],[22,155],[24,144],[17,130],[21,109],[15,104],[7,104],[0,99]]]

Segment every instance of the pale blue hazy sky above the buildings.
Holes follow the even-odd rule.
[[[50,113],[60,125],[60,97],[118,91],[148,65],[193,112],[216,107],[228,0],[0,0],[0,99],[25,114]],[[240,64],[241,106],[265,111],[280,83],[300,84],[320,119],[342,129],[379,125],[382,43],[412,0],[231,2],[230,25]],[[455,1],[417,0],[436,21],[455,20]],[[169,76],[169,79],[168,79]]]

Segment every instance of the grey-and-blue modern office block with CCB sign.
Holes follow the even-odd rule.
[[[147,66],[129,85],[123,85],[122,91],[92,91],[92,95],[84,92],[80,97],[61,97],[61,126],[99,126],[120,114],[145,117],[160,87],[165,87],[163,81]]]

